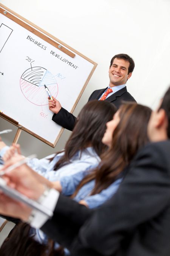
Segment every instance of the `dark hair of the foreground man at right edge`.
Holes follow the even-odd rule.
[[[168,128],[167,128],[167,135],[168,138],[170,138],[170,87],[166,91],[162,104],[159,109],[163,108],[166,112],[167,118],[168,118]]]

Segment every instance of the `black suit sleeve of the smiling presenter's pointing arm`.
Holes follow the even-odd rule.
[[[76,123],[76,117],[68,112],[65,108],[61,108],[57,114],[54,114],[52,120],[70,131],[74,129]]]

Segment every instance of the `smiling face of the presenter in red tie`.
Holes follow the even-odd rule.
[[[123,59],[115,58],[111,67],[109,68],[110,87],[117,85],[124,85],[127,79],[131,77],[131,73],[128,74],[128,67],[130,63]]]

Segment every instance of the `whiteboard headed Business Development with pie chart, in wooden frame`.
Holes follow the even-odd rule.
[[[28,20],[0,8],[0,110],[26,132],[54,147],[63,128],[51,120],[44,85],[73,112],[96,66]]]

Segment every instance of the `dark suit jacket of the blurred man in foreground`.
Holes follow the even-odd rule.
[[[141,149],[117,193],[94,211],[60,195],[42,229],[72,256],[170,256],[170,141]]]

